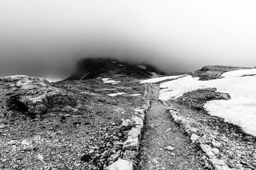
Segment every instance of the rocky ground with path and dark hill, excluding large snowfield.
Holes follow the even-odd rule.
[[[218,79],[238,69],[251,68],[190,74]],[[205,102],[229,94],[205,88],[160,101],[161,82],[139,81],[163,74],[98,58],[80,60],[60,82],[0,77],[0,169],[256,170],[256,138],[204,111]]]

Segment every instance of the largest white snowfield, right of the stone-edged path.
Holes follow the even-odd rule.
[[[186,76],[160,84],[159,98],[177,99],[184,93],[201,88],[216,88],[217,92],[228,93],[230,100],[212,100],[204,105],[212,116],[239,125],[246,133],[256,136],[256,76],[240,77],[244,74],[256,74],[256,69],[229,71],[222,79],[198,81],[198,77]]]

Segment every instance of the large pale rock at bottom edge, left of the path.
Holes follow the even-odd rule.
[[[118,159],[113,164],[109,165],[106,170],[134,170],[133,163],[124,159]]]

